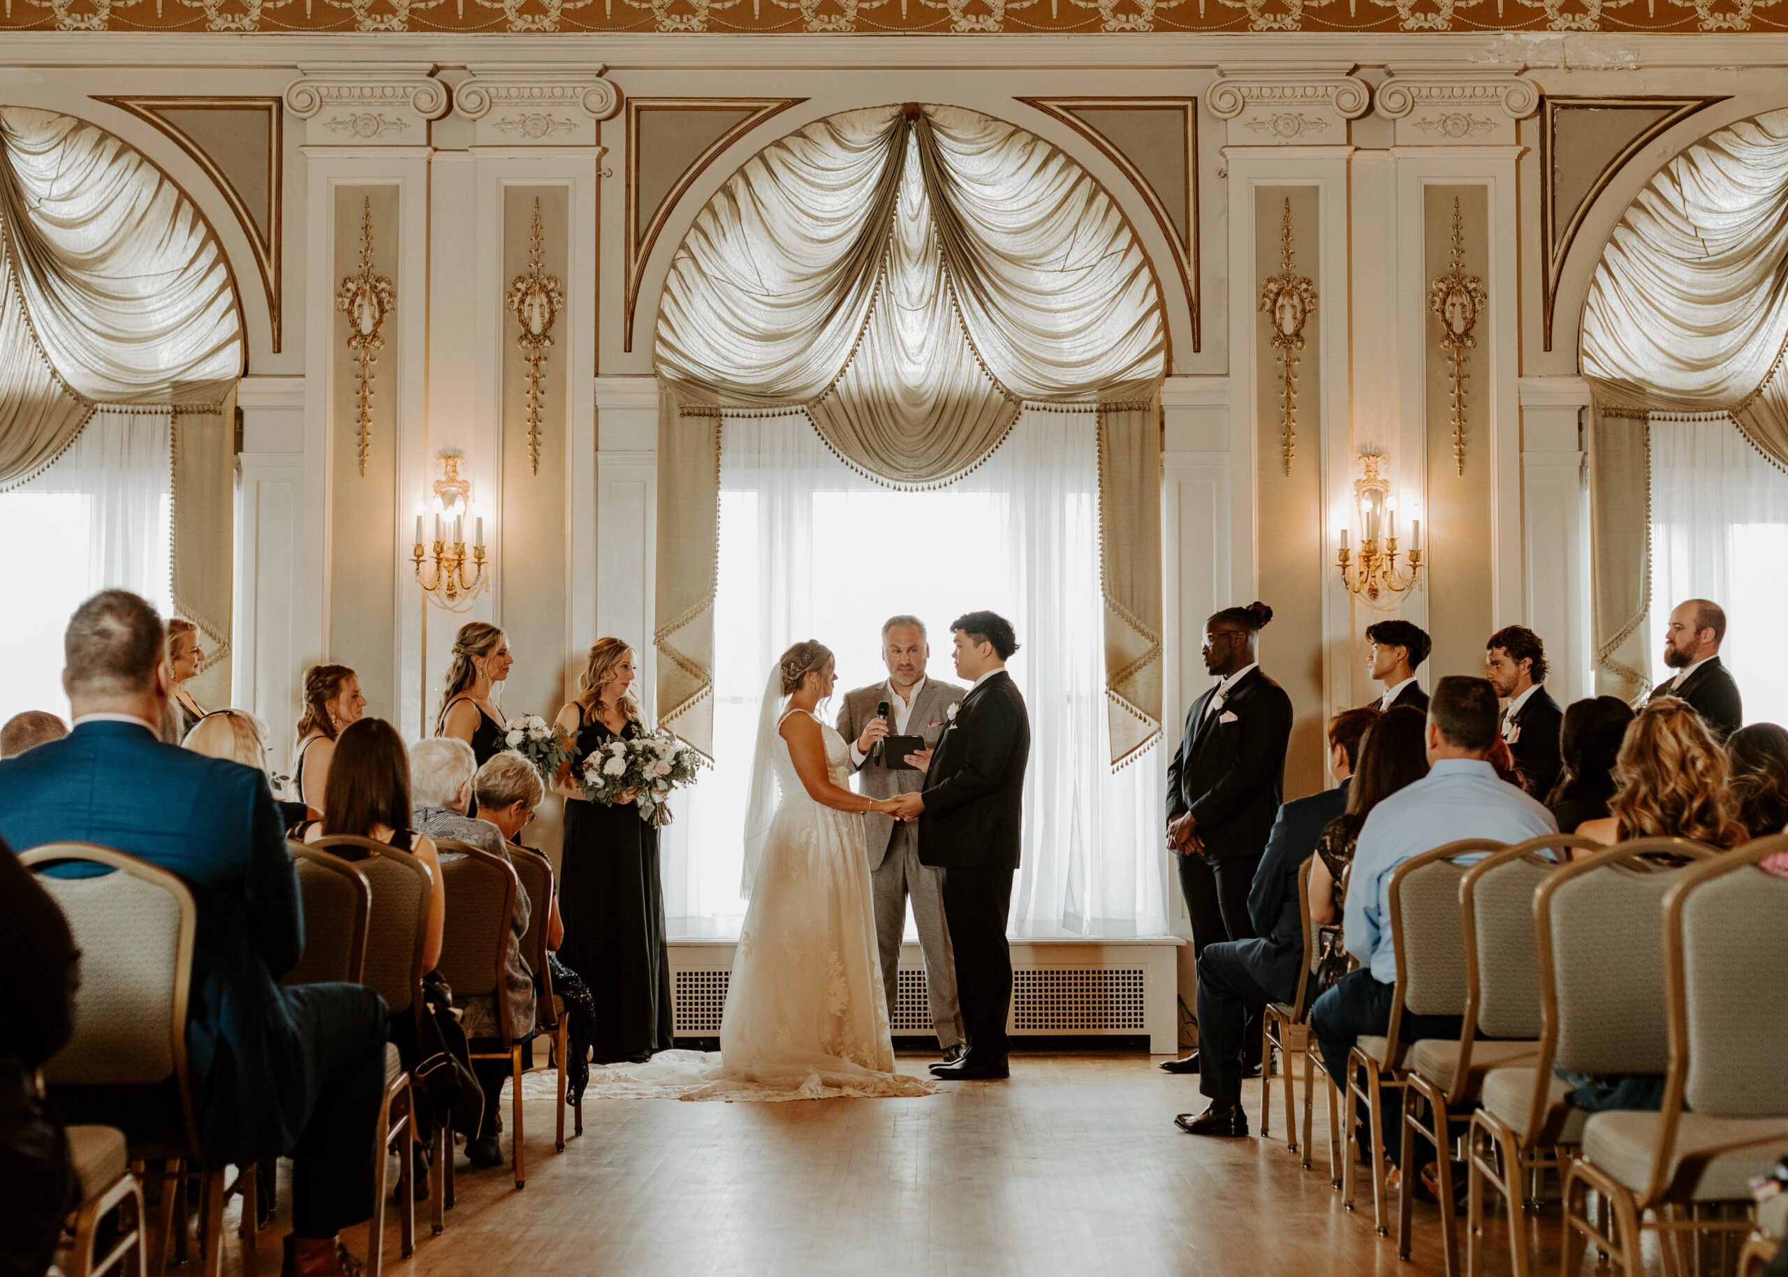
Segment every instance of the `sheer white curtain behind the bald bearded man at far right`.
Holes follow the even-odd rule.
[[[1720,660],[1745,698],[1745,723],[1788,723],[1788,474],[1763,460],[1725,417],[1652,420],[1652,681],[1663,617],[1683,599],[1725,610]]]

